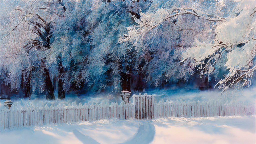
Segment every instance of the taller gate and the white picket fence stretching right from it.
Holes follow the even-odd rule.
[[[151,95],[134,95],[136,119],[157,119],[165,117],[215,117],[254,115],[255,105],[223,103],[223,101],[169,101],[156,103]],[[134,117],[133,117],[134,118]]]

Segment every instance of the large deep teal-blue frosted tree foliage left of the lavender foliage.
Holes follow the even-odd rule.
[[[54,53],[60,53],[66,73],[67,90],[76,88],[101,91],[108,86],[120,90],[121,72],[127,73],[132,59],[130,43],[118,43],[125,27],[133,24],[129,12],[138,13],[150,1],[66,2],[65,22],[58,25]],[[60,50],[61,49],[61,50]],[[49,57],[50,61],[56,61]]]

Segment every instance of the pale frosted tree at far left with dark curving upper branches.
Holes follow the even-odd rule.
[[[25,2],[21,4],[25,5]],[[57,5],[62,6],[61,4],[61,1],[33,1],[28,6],[14,9],[8,17],[10,21],[6,21],[1,45],[4,50],[3,59],[8,61],[4,64],[11,69],[6,84],[11,84],[12,89],[21,86],[21,90],[25,86],[25,97],[30,97],[33,81],[35,89],[40,86],[41,91],[46,91],[47,99],[55,98],[46,55],[51,51],[51,33],[58,19],[54,14],[61,17],[61,11],[56,10],[56,7],[59,8]],[[45,10],[48,15],[45,14]],[[65,11],[64,8],[62,11]]]

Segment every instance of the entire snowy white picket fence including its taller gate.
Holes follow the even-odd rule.
[[[255,106],[221,101],[166,101],[156,103],[151,95],[133,95],[133,103],[0,110],[0,129],[42,126],[56,123],[95,121],[102,119],[157,119],[165,117],[209,117],[254,115]]]

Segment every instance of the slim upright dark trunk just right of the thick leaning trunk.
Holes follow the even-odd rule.
[[[64,67],[62,65],[61,57],[59,56],[59,61],[58,61],[58,70],[59,70],[59,78],[58,78],[58,98],[59,99],[64,99],[65,98],[65,90],[63,88],[64,81],[62,79],[62,75],[64,73]]]

